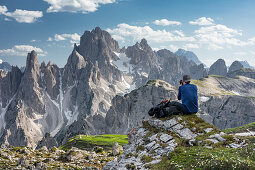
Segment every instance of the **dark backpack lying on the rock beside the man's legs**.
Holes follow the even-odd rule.
[[[150,116],[154,116],[157,117],[157,118],[162,118],[162,117],[166,117],[168,116],[167,114],[165,114],[165,111],[164,111],[164,108],[168,106],[170,101],[168,100],[164,100],[162,102],[160,102],[157,106],[155,107],[152,107],[148,114]]]

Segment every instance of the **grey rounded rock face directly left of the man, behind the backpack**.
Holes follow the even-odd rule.
[[[116,96],[105,118],[106,133],[129,132],[149,118],[151,107],[166,99],[176,100],[176,91],[173,86],[161,80],[149,81],[128,95]]]

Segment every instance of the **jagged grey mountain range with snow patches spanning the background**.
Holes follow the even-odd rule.
[[[35,148],[48,138],[61,145],[77,134],[126,133],[160,100],[176,99],[174,86],[183,74],[192,79],[208,76],[203,64],[184,55],[155,52],[145,39],[120,49],[99,27],[84,32],[64,68],[40,65],[32,51],[24,72],[13,66],[0,74],[0,144]],[[227,72],[224,65],[217,61],[209,74],[254,78],[253,69],[233,63]],[[147,82],[152,79],[164,81],[151,86]]]

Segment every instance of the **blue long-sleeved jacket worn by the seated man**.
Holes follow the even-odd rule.
[[[178,100],[182,100],[185,110],[189,113],[198,112],[197,86],[194,84],[180,86]]]

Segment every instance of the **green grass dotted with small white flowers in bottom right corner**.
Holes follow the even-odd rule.
[[[179,147],[150,169],[255,169],[255,145],[240,149]]]

